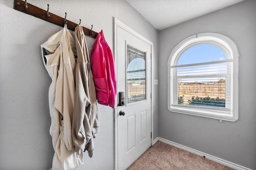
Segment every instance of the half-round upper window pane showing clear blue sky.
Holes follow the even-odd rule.
[[[226,59],[225,53],[219,47],[211,44],[199,44],[186,49],[180,55],[177,65],[205,63]]]

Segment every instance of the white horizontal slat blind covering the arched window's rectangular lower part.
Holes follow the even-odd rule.
[[[172,104],[231,108],[232,59],[171,66]]]

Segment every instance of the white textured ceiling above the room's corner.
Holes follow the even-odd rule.
[[[156,29],[225,8],[243,0],[125,0]]]

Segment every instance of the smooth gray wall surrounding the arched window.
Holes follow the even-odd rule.
[[[240,52],[236,122],[172,113],[167,109],[167,61],[172,49],[196,33],[230,37]],[[180,23],[159,32],[159,137],[256,169],[256,1]]]

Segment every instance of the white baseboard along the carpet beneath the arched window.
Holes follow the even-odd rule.
[[[160,138],[160,137],[157,137],[154,141],[153,141],[153,145],[157,142],[157,141],[161,141],[163,143],[166,143],[166,144],[169,144],[169,145],[172,145],[174,147],[177,147],[177,148],[180,148],[182,150],[186,150],[188,152],[191,152],[193,154],[196,154],[196,155],[199,155],[199,156],[205,156],[205,158],[209,159],[209,160],[212,160],[214,162],[218,162],[222,165],[225,165],[225,166],[228,166],[230,168],[233,168],[233,169],[236,169],[236,170],[251,170],[249,168],[246,168],[244,166],[240,166],[238,164],[234,164],[232,162],[229,162],[227,160],[223,160],[221,158],[218,158],[216,156],[212,156],[210,154],[206,154],[204,152],[201,152],[201,151],[198,151],[198,150],[195,150],[195,149],[192,149],[192,148],[189,148],[189,147],[186,147],[184,145],[180,145],[178,143],[175,143],[175,142],[172,142],[172,141],[168,141],[166,139],[163,139],[163,138]]]

